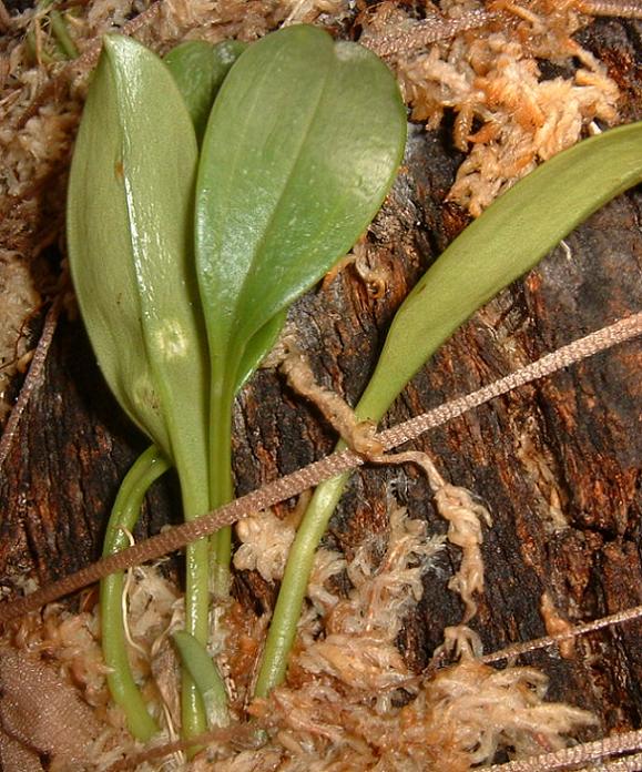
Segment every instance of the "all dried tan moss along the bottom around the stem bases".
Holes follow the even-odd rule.
[[[498,671],[480,663],[479,641],[467,628],[450,629],[447,636],[447,649],[459,663],[426,676],[409,670],[396,640],[421,599],[426,575],[438,569],[442,539],[428,537],[425,522],[389,504],[389,531],[360,545],[351,561],[319,552],[287,681],[268,700],[251,701],[267,614],[257,617],[238,603],[227,607],[223,627],[231,653],[220,657],[218,664],[228,674],[233,714],[238,720],[245,711],[254,715],[267,731],[267,742],[248,748],[247,737],[241,735],[213,744],[188,769],[206,770],[215,763],[217,770],[231,772],[467,770],[492,761],[498,749],[530,755],[562,748],[564,734],[592,722],[584,711],[546,702],[542,673],[531,668]],[[266,519],[263,536],[273,528]],[[254,541],[259,530],[257,521]],[[329,581],[344,571],[351,585],[347,597],[337,595]],[[278,576],[279,560],[269,573]],[[169,741],[179,719],[177,668],[167,632],[181,622],[181,603],[157,570],[136,569],[135,575],[130,589],[133,666]],[[436,580],[439,575],[437,570]],[[44,626],[30,618],[4,641],[31,657],[45,653],[49,667],[94,707],[101,731],[88,753],[92,763],[60,766],[70,772],[104,770],[135,751],[122,715],[110,704],[96,639],[91,613],[74,617],[53,607]],[[69,693],[61,694],[61,710],[69,699]],[[137,769],[160,766],[145,762]],[[170,759],[162,769],[187,766],[183,759]]]

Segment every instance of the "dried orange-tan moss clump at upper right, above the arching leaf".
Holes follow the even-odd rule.
[[[616,121],[618,87],[571,38],[585,20],[580,4],[444,0],[439,10],[446,20],[486,13],[488,22],[415,55],[401,50],[391,57],[415,121],[436,129],[446,110],[455,112],[452,141],[467,158],[448,197],[472,215],[539,162],[578,142],[591,121]],[[391,2],[364,20],[374,38],[390,26],[411,33],[420,23]],[[538,60],[569,64],[573,58],[580,67],[571,77],[542,79]]]

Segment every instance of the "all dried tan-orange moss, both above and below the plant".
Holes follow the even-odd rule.
[[[149,6],[147,0],[81,3],[70,19],[71,34],[82,52],[98,35],[122,28]],[[414,120],[436,128],[446,112],[455,113],[454,144],[468,156],[450,199],[472,214],[539,161],[575,142],[591,121],[616,121],[615,84],[571,38],[583,21],[579,6],[574,0],[442,0],[440,29],[446,32],[450,19],[475,12],[495,16],[476,29],[388,57]],[[349,13],[342,0],[165,0],[137,37],[164,52],[184,39],[253,40],[281,23],[333,23]],[[391,2],[368,9],[360,22],[365,42],[391,30],[414,33],[418,24]],[[33,11],[13,17],[0,42],[0,286],[23,298],[11,313],[1,304],[2,328],[10,332],[1,363],[9,363],[14,352],[24,354],[24,347],[17,347],[18,329],[41,301],[41,287],[26,268],[61,231],[65,169],[86,82],[86,68],[61,77],[64,63],[32,61],[23,35],[37,24]],[[39,35],[45,45],[42,32]],[[538,59],[564,65],[575,59],[580,67],[568,78],[543,80]],[[53,82],[58,88],[43,92]],[[40,106],[23,120],[43,93]],[[12,372],[13,365],[6,368],[6,374]],[[281,545],[272,552],[262,551],[265,528]],[[278,528],[274,517],[248,524],[238,565],[258,570],[266,580],[277,579],[292,531]],[[420,598],[421,577],[439,545],[427,538],[424,524],[397,508],[390,512],[388,539],[377,539],[363,545],[348,565],[337,553],[319,551],[288,680],[269,700],[249,705],[267,729],[267,744],[220,744],[197,758],[192,769],[211,769],[208,759],[215,756],[216,769],[223,771],[466,770],[491,761],[498,748],[516,755],[559,748],[564,733],[590,722],[582,711],[546,703],[541,673],[528,668],[497,671],[476,661],[466,628],[451,631],[460,649],[458,664],[426,677],[410,672],[396,638]],[[328,583],[344,571],[353,587],[347,598]],[[141,572],[130,596],[132,609],[137,609],[132,637],[142,649],[134,654],[134,666],[156,713],[161,715],[166,703],[169,717],[176,714],[175,658],[166,643],[166,632],[180,614],[174,593],[150,569]],[[266,617],[238,603],[224,612],[227,640],[225,647],[223,641],[215,643],[218,651],[228,652],[218,654],[218,663],[228,674],[233,710],[241,718]],[[71,617],[51,609],[44,626],[26,620],[4,643],[45,657],[94,708],[103,727],[91,754],[99,769],[134,750],[122,730],[122,717],[108,699],[93,614]],[[172,737],[172,731],[164,734]],[[162,768],[182,765],[174,756]],[[160,762],[139,766],[160,768]],[[86,769],[94,764],[88,762]]]

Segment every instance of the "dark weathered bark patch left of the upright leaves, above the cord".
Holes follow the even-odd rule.
[[[40,583],[51,581],[99,556],[120,480],[144,447],[109,394],[81,324],[61,322],[0,477],[4,585],[31,570]],[[167,495],[155,495],[137,532],[157,530],[169,509]]]

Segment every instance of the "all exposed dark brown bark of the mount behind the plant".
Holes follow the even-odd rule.
[[[640,30],[638,22],[603,21],[583,33],[583,44],[612,68],[626,94],[628,120],[642,116]],[[370,234],[374,256],[389,271],[386,296],[373,299],[347,268],[293,311],[319,380],[351,403],[395,308],[465,224],[460,212],[442,203],[458,161],[446,132],[412,126],[407,171]],[[465,325],[408,386],[386,423],[473,390],[640,309],[641,220],[640,192],[594,215],[568,237],[570,253],[557,248]],[[486,651],[546,634],[539,612],[544,591],[571,621],[642,603],[639,365],[640,344],[624,344],[417,443],[493,516],[483,545],[487,589],[471,624]],[[316,410],[268,369],[243,392],[234,427],[238,494],[319,458],[335,441]],[[119,481],[143,447],[108,394],[80,324],[62,323],[0,479],[0,576],[8,592],[18,576],[34,572],[42,583],[99,555]],[[328,542],[349,556],[365,534],[385,530],[390,489],[412,517],[446,531],[415,469],[378,467],[354,477]],[[151,498],[140,536],[177,517],[171,481]],[[418,612],[405,626],[400,644],[416,668],[441,642],[444,627],[461,618],[461,603],[446,587],[458,561],[451,549],[442,572],[426,577]],[[271,595],[252,577],[237,589],[247,597],[251,587]],[[574,659],[548,651],[522,661],[549,673],[552,697],[592,710],[601,720],[595,732],[623,730],[642,720],[641,636],[642,623],[633,622],[583,638]]]

